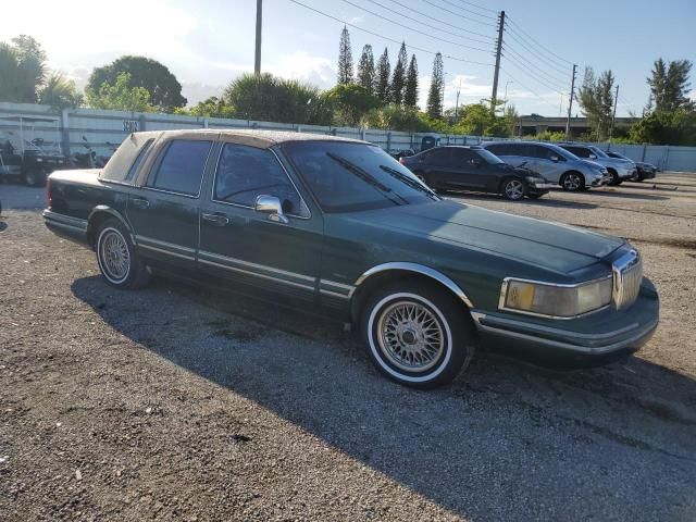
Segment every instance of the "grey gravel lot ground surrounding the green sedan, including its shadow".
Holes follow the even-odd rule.
[[[108,287],[41,190],[1,185],[0,520],[694,520],[696,175],[461,198],[631,238],[652,340],[569,373],[482,353],[411,390],[340,325]]]

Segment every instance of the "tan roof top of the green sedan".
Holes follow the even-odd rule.
[[[146,133],[134,133],[146,134]],[[194,128],[179,130],[160,130],[152,134],[160,134],[161,139],[186,139],[204,138],[221,139],[226,142],[249,145],[268,149],[274,145],[290,141],[343,141],[350,144],[372,145],[360,139],[344,138],[325,134],[296,133],[293,130],[262,130],[256,128]]]

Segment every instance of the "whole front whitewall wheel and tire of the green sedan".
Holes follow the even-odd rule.
[[[399,384],[434,388],[453,380],[474,353],[463,306],[428,284],[396,282],[377,290],[362,314],[375,366]]]

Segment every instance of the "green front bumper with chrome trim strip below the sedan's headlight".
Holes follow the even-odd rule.
[[[532,321],[513,313],[472,311],[482,344],[542,365],[606,364],[645,345],[659,322],[659,299],[644,279],[641,295],[626,310],[613,307],[571,321]]]

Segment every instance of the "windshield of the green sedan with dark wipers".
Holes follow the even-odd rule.
[[[381,148],[341,141],[294,141],[283,150],[324,212],[418,204],[440,199]]]

